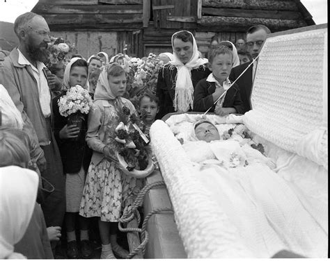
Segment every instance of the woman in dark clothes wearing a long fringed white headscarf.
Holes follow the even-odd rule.
[[[169,112],[187,112],[193,106],[194,87],[211,71],[207,59],[199,58],[194,35],[179,31],[172,35],[173,60],[159,70],[157,96],[158,118]]]

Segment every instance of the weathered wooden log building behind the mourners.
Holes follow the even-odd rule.
[[[274,32],[315,24],[299,0],[40,0],[33,8],[88,58],[104,51],[146,56],[172,51],[171,35],[187,29],[207,52],[210,39],[236,42],[249,26]]]

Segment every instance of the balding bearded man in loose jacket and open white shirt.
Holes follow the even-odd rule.
[[[65,178],[52,130],[52,99],[45,72],[49,27],[40,15],[26,12],[15,20],[19,46],[0,62],[0,83],[6,87],[24,120],[23,130],[38,144],[41,176],[54,186],[41,202],[47,227],[62,226]]]

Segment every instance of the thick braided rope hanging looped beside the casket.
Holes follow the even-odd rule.
[[[142,190],[140,190],[139,194],[136,196],[136,199],[134,200],[134,203],[128,207],[125,207],[123,216],[120,217],[119,222],[118,222],[118,229],[121,232],[125,232],[125,233],[141,233],[141,239],[142,239],[141,244],[139,244],[139,246],[137,246],[132,252],[129,253],[129,255],[127,255],[127,257],[126,257],[127,259],[133,258],[134,255],[137,255],[141,251],[144,254],[144,252],[146,251],[146,244],[148,243],[148,240],[149,240],[149,235],[148,235],[148,232],[146,231],[146,226],[147,226],[147,222],[150,219],[150,217],[153,214],[157,214],[159,212],[164,212],[164,211],[173,212],[172,208],[164,208],[164,209],[160,208],[160,209],[152,210],[150,213],[148,213],[146,215],[146,217],[143,221],[142,228],[123,228],[123,226],[122,226],[122,224],[124,224],[124,223],[127,224],[127,223],[129,223],[129,221],[132,221],[134,219],[134,217],[136,217],[138,224],[140,224],[141,217],[140,217],[140,214],[139,214],[139,211],[137,210],[137,208],[143,202],[144,196],[153,187],[159,187],[159,186],[164,186],[164,185],[165,185],[164,181],[157,181],[155,183],[146,185],[145,187],[143,187]]]

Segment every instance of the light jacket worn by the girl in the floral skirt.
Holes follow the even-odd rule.
[[[129,108],[131,114],[135,113],[135,108],[129,100],[121,98],[121,101],[123,106]],[[93,149],[92,162],[97,165],[104,158],[103,149],[107,146],[105,132],[107,125],[111,124],[111,119],[116,114],[116,110],[107,100],[97,100],[94,101],[94,104],[96,106],[95,110],[91,110],[88,115],[86,142]]]

